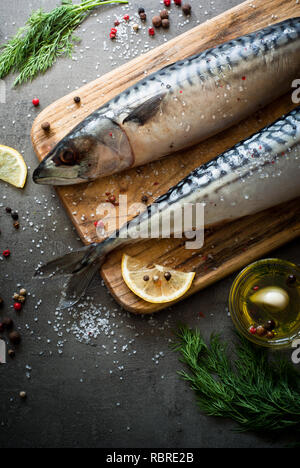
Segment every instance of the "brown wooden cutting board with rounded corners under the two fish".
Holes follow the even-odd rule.
[[[48,151],[88,114],[144,77],[163,66],[216,46],[269,24],[299,16],[296,0],[249,0],[222,15],[191,29],[151,50],[101,78],[83,86],[43,110],[32,127],[32,143],[41,160]],[[74,96],[81,97],[76,105]],[[240,140],[271,123],[293,107],[291,96],[281,98],[240,125],[200,145],[168,156],[148,166],[84,185],[59,187],[57,192],[85,244],[99,241],[94,226],[97,206],[107,199],[106,193],[126,194],[128,204],[140,202],[144,194],[149,203],[175,185],[195,167],[211,160]],[[41,130],[45,121],[51,132]],[[241,269],[249,262],[300,234],[300,200],[247,217],[215,231],[206,232],[201,251],[186,250],[178,239],[149,240],[124,249],[145,264],[160,263],[183,271],[196,271],[189,295]],[[124,220],[125,221],[125,220]],[[152,313],[170,304],[144,302],[129,291],[121,276],[123,251],[113,252],[101,273],[115,299],[134,313]]]

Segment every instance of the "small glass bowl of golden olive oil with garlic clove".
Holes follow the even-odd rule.
[[[229,297],[232,320],[252,342],[272,348],[300,338],[300,268],[279,259],[264,259],[245,268]]]

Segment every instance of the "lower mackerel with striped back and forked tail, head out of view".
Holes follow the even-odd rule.
[[[174,221],[187,203],[204,204],[206,227],[232,221],[299,197],[299,180],[300,106],[195,169],[116,234],[42,266],[37,274],[69,275],[61,307],[70,307],[82,296],[106,256],[116,248],[139,242],[137,234],[150,232],[150,223],[161,226],[167,215]]]

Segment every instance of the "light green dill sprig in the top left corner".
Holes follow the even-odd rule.
[[[79,40],[74,30],[100,5],[128,3],[127,0],[62,0],[50,12],[34,11],[26,25],[6,44],[0,46],[0,79],[9,73],[19,73],[14,86],[31,81],[45,73],[58,57],[71,56]]]

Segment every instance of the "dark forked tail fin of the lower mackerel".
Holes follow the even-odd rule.
[[[35,276],[43,279],[52,276],[67,276],[59,303],[60,309],[73,306],[84,295],[105,260],[109,251],[107,245],[105,241],[101,244],[91,244],[38,268]]]

